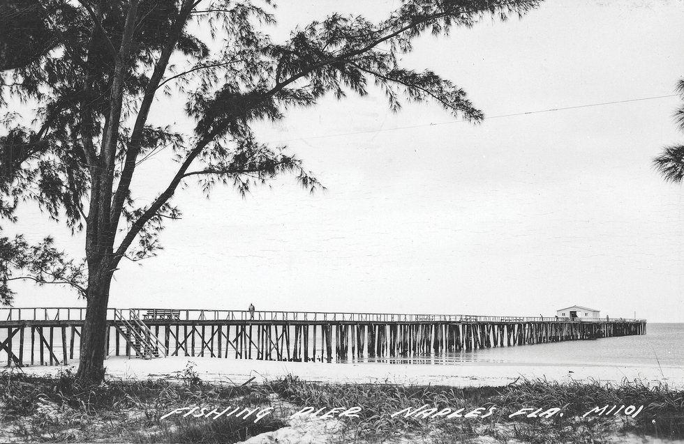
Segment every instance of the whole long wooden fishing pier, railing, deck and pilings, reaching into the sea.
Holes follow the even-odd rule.
[[[85,309],[0,308],[0,362],[65,365]],[[327,361],[437,357],[491,347],[645,335],[646,319],[108,309],[107,353]]]

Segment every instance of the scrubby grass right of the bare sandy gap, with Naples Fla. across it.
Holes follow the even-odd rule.
[[[451,388],[439,386],[400,386],[392,384],[329,385],[285,378],[270,384],[284,399],[308,406],[369,406],[359,418],[347,421],[343,438],[382,442],[387,437],[410,436],[424,442],[469,442],[479,436],[497,441],[524,443],[623,442],[632,438],[684,438],[684,391],[667,385],[647,386],[640,381],[623,381],[619,386],[592,383],[523,381],[503,388]],[[341,401],[343,400],[343,401]],[[404,418],[391,417],[406,408],[424,404],[441,410],[464,408],[463,415],[476,408],[492,410],[487,418]],[[631,415],[585,413],[595,407],[643,406]],[[560,408],[551,418],[528,418],[542,408]],[[521,408],[526,414],[510,418]],[[624,408],[624,407],[623,407]],[[538,415],[539,412],[537,412]],[[563,413],[563,415],[560,415]]]

